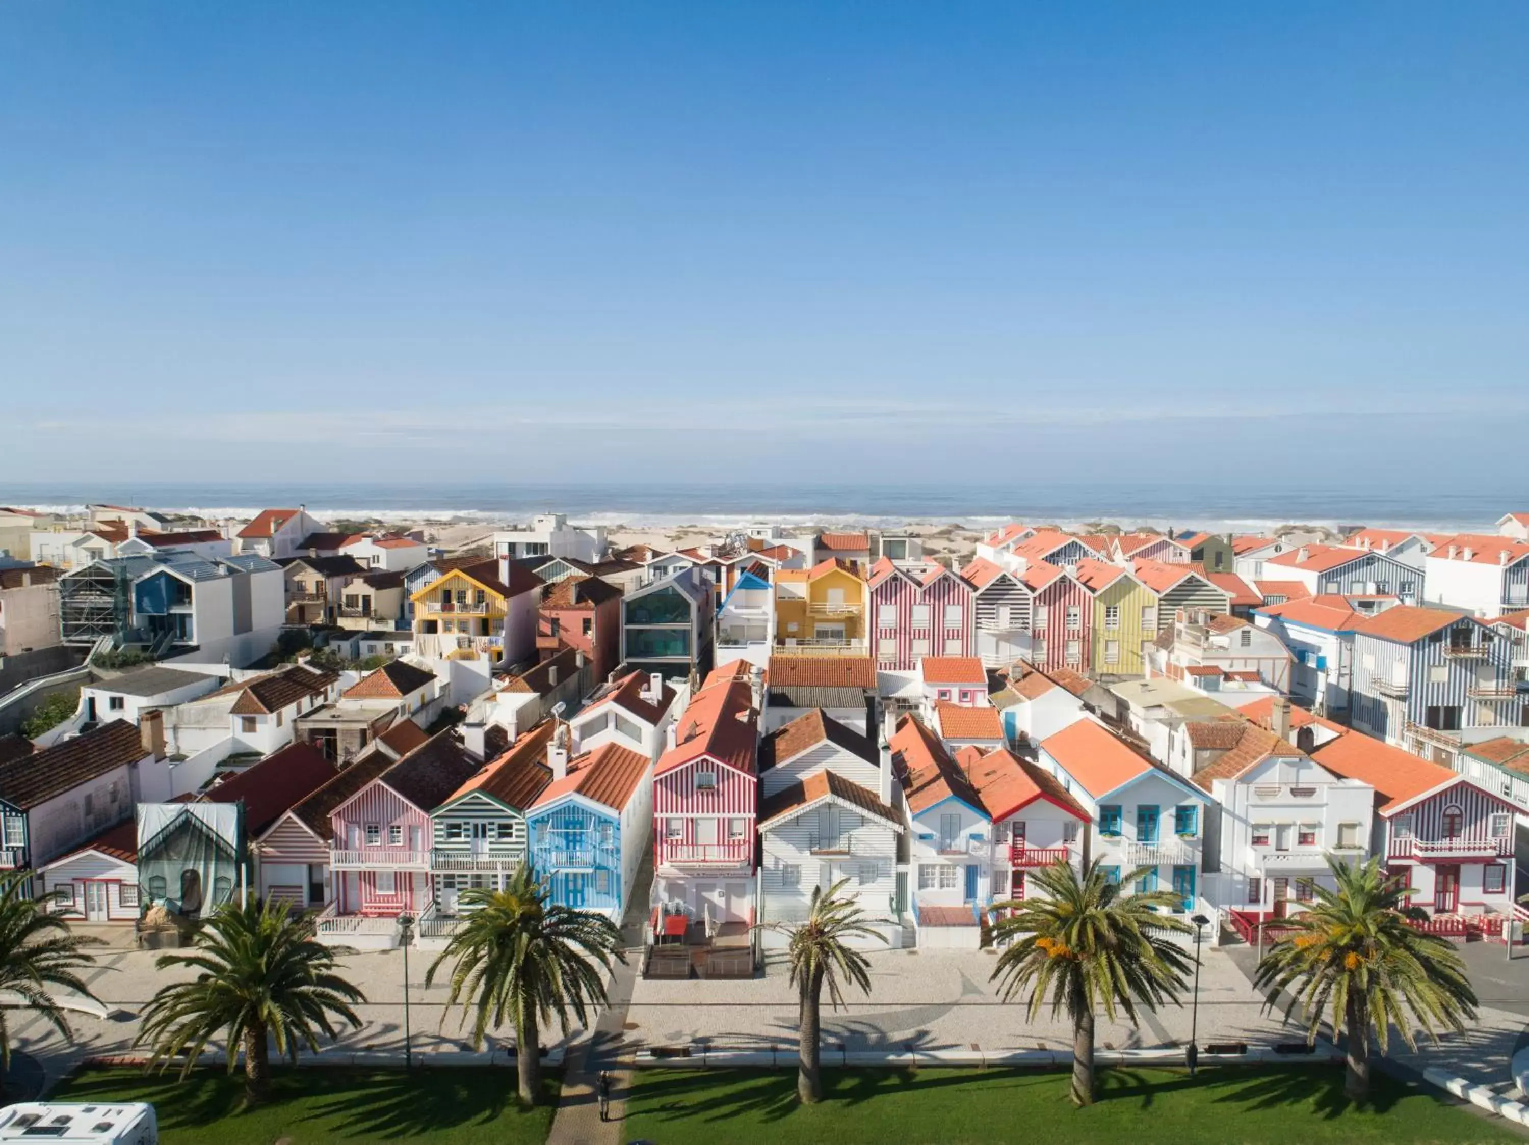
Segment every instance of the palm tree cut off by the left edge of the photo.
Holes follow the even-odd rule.
[[[61,917],[40,911],[26,894],[31,877],[29,871],[0,874],[0,991],[20,995],[64,1038],[73,1038],[49,988],[63,986],[98,1001],[75,972],[95,963],[81,951],[95,939],[72,934]],[[0,1078],[11,1069],[11,1029],[5,1015],[0,1009]]]

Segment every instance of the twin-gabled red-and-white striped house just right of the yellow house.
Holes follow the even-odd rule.
[[[972,654],[972,585],[943,564],[893,564],[867,576],[870,630],[881,671],[911,671],[925,656]]]

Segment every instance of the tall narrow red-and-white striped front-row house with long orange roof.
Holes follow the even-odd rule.
[[[734,660],[668,726],[653,769],[653,903],[667,916],[754,922],[761,702],[754,665]]]

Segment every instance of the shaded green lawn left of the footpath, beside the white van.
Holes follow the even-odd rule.
[[[271,1101],[245,1110],[243,1075],[196,1070],[187,1081],[136,1069],[90,1069],[67,1078],[54,1101],[148,1101],[162,1145],[291,1145],[428,1140],[541,1145],[552,1125],[558,1078],[547,1072],[546,1105],[515,1108],[512,1069],[362,1070],[306,1066],[274,1070]]]

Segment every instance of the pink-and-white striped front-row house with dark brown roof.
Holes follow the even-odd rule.
[[[393,946],[398,916],[430,905],[430,813],[466,783],[479,763],[450,731],[427,740],[329,816],[332,902],[320,940]]]

